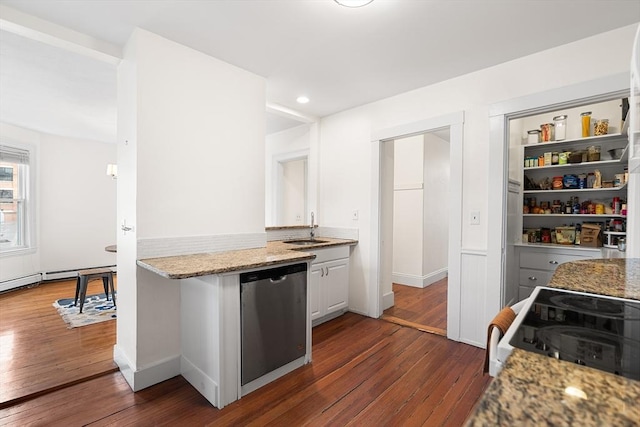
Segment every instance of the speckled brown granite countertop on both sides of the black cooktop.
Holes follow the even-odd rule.
[[[582,260],[559,265],[549,286],[640,299],[639,278],[640,259]],[[514,348],[466,425],[640,426],[639,402],[640,381]]]

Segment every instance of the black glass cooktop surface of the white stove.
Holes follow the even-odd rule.
[[[509,343],[640,380],[640,301],[540,289]]]

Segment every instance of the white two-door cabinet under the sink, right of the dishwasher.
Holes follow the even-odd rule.
[[[343,314],[349,307],[349,246],[312,250],[309,304],[313,326]]]

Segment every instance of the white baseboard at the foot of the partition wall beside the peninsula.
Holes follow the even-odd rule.
[[[113,360],[134,392],[180,375],[180,356],[169,357],[134,371],[133,364],[116,344],[113,347]]]

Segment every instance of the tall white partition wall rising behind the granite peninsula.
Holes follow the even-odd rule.
[[[137,29],[118,100],[118,222],[133,230],[118,235],[114,353],[139,390],[180,372],[179,281],[138,268],[141,244],[159,242],[168,256],[178,250],[172,239],[193,247],[190,239],[208,236],[218,250],[227,248],[216,236],[266,243],[265,82]]]

